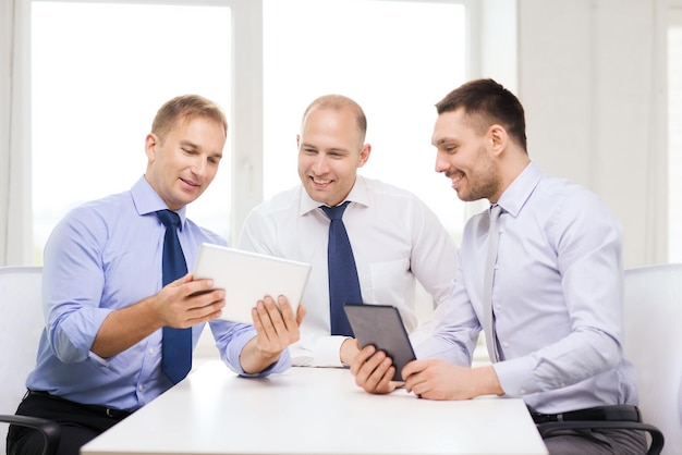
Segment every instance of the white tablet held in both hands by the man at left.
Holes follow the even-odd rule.
[[[195,279],[210,278],[226,291],[222,319],[253,323],[251,310],[266,295],[289,299],[296,313],[310,274],[310,265],[204,243],[193,271]]]

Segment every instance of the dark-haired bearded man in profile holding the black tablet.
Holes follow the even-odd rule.
[[[458,281],[434,315],[434,335],[415,349],[418,360],[402,370],[405,389],[428,399],[521,397],[538,423],[637,421],[635,371],[622,347],[620,223],[596,195],[531,161],[523,107],[495,81],[464,84],[436,107],[436,170],[460,199],[501,208],[499,242],[486,291],[497,209],[466,223]],[[484,328],[492,365],[470,368]],[[390,359],[370,346],[351,372],[372,393],[397,386]],[[631,430],[568,430],[546,444],[551,454],[645,452],[643,434]]]

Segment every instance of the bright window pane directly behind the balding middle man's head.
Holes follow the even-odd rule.
[[[341,94],[367,115],[366,176],[411,189],[459,237],[464,204],[435,173],[434,104],[465,81],[466,11],[454,2],[265,0],[265,197],[299,183],[307,104]]]

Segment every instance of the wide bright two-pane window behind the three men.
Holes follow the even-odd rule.
[[[361,172],[413,190],[459,236],[464,205],[434,172],[430,135],[434,104],[467,76],[463,2],[31,4],[36,263],[71,208],[126,190],[144,173],[144,139],[156,110],[186,93],[220,103],[231,127],[216,181],[188,208],[199,224],[234,241],[245,200],[248,209],[260,195],[297,184],[303,110],[320,95],[339,93],[368,116],[373,155]],[[253,132],[261,132],[263,146]]]

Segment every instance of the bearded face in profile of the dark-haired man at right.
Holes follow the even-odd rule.
[[[490,151],[489,132],[477,133],[463,109],[443,112],[434,126],[431,144],[437,148],[436,172],[452,181],[458,197],[465,201],[497,201],[501,176]]]

